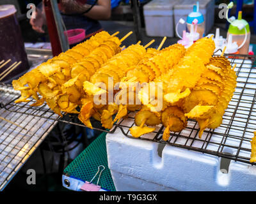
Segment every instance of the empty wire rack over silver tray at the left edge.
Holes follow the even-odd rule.
[[[10,85],[0,85],[0,102],[10,101],[19,94]],[[33,115],[9,112],[0,106],[0,191],[54,127],[56,121]]]

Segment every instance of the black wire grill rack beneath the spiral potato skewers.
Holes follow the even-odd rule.
[[[243,163],[250,163],[251,145],[253,131],[256,130],[256,68],[254,55],[225,55],[231,65],[235,63],[237,73],[237,87],[228,108],[223,115],[223,123],[216,129],[205,129],[202,138],[198,138],[199,126],[195,120],[189,120],[188,126],[180,133],[170,133],[170,139],[162,140],[164,127],[157,126],[156,131],[141,136],[140,140],[166,143],[176,147],[196,150],[205,154],[225,157]],[[4,105],[11,112],[26,113],[45,119],[59,120],[84,126],[77,115],[69,115],[68,120],[61,119],[54,114],[47,105],[40,107],[29,106],[32,102],[15,104],[15,99]],[[94,128],[108,133],[114,133],[120,128],[122,133],[131,137],[129,128],[134,126],[135,112],[129,113],[128,117],[120,120],[111,129]],[[256,164],[256,163],[250,163]]]

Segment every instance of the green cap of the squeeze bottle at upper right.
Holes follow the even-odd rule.
[[[245,29],[241,29],[241,27],[246,27],[247,33],[250,32],[250,26],[248,22],[244,19],[242,19],[242,11],[239,11],[238,17],[236,20],[231,22],[231,24],[228,27],[228,33],[231,34],[245,34]]]

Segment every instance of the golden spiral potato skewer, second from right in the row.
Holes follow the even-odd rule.
[[[170,131],[181,131],[186,127],[186,117],[182,104],[195,87],[202,73],[205,71],[205,64],[210,61],[214,52],[214,41],[209,38],[202,38],[193,46],[189,47],[184,55],[177,60],[177,63],[168,68],[168,71],[154,79],[155,83],[161,83],[161,94],[157,101],[163,101],[160,114],[164,127],[163,140],[168,140]],[[144,100],[143,98],[146,98]],[[149,96],[140,92],[141,103],[150,101]],[[144,104],[145,105],[145,104]],[[145,105],[154,112],[154,106]],[[169,115],[169,117],[168,117]]]

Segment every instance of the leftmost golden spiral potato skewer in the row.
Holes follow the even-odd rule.
[[[20,98],[17,99],[15,103],[28,102],[28,98],[32,97],[36,100],[33,106],[42,105],[44,100],[40,99],[38,96],[38,85],[44,83],[49,89],[55,88],[54,92],[56,92],[56,87],[70,79],[72,65],[81,61],[83,57],[90,54],[100,43],[109,38],[111,38],[111,36],[106,31],[95,34],[95,36],[92,36],[92,38],[84,43],[80,43],[76,45],[76,47],[67,50],[67,52],[61,53],[49,59],[47,62],[40,64],[37,68],[22,75],[18,80],[13,80],[13,88],[20,91],[21,94]],[[44,88],[41,90],[45,90]],[[44,95],[46,93],[43,92],[42,94]]]

